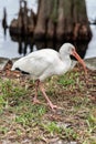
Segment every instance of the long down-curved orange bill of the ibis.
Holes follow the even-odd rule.
[[[78,62],[83,65],[85,74],[87,74],[87,70],[86,70],[86,65],[85,62],[83,61],[83,59],[77,54],[77,52],[75,51],[75,49],[72,51],[72,55],[74,55]]]

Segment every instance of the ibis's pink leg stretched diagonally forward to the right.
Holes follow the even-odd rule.
[[[40,90],[41,90],[41,92],[43,93],[43,96],[44,96],[45,100],[47,101],[47,103],[49,103],[50,107],[52,109],[52,111],[54,111],[54,109],[57,109],[57,106],[54,105],[54,104],[51,102],[51,100],[47,97],[47,95],[46,95],[46,93],[45,93],[45,90],[44,90],[42,83],[40,83]]]

